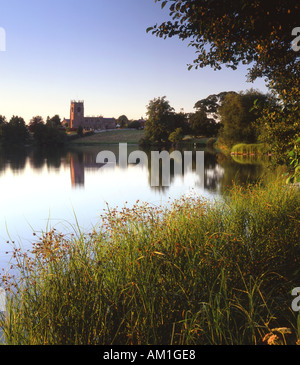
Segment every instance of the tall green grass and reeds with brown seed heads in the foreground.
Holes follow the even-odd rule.
[[[299,203],[279,181],[235,187],[226,202],[108,209],[88,234],[51,230],[31,255],[14,252],[18,282],[3,277],[3,340],[295,344]]]

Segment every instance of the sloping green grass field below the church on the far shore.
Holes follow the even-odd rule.
[[[92,136],[83,137],[80,139],[75,139],[71,141],[70,144],[115,144],[115,143],[128,143],[128,144],[138,144],[139,140],[144,136],[144,131],[142,130],[115,130],[97,133]]]

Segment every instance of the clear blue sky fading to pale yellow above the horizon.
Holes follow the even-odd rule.
[[[187,43],[146,33],[167,19],[154,0],[0,0],[0,114],[69,117],[70,100],[86,115],[146,116],[149,100],[166,96],[176,111],[192,112],[210,94],[251,87],[237,71],[187,70]]]

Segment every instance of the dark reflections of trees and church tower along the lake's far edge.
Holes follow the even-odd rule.
[[[137,146],[127,147],[127,158],[131,152],[136,151]],[[96,157],[100,151],[109,150],[116,156],[115,168],[122,168],[119,164],[119,146],[92,146],[80,147],[72,149],[55,149],[55,150],[40,150],[40,149],[2,149],[0,150],[0,182],[1,175],[6,171],[11,170],[14,174],[20,174],[25,169],[27,163],[30,168],[39,172],[45,167],[49,171],[59,171],[61,168],[70,169],[70,181],[72,187],[84,188],[85,175],[87,172],[103,173],[104,166],[96,163]],[[180,152],[192,150],[193,163],[190,174],[196,174],[196,151],[193,147],[181,148]],[[151,150],[146,150],[148,156],[148,184],[151,189],[165,192],[169,187],[163,186],[160,174],[158,186],[151,186]],[[172,152],[172,150],[168,151]],[[184,159],[182,159],[182,163]],[[247,183],[257,181],[265,170],[265,162],[262,160],[243,157],[226,157],[214,150],[205,151],[204,159],[204,189],[223,194],[228,188],[235,183]],[[174,168],[174,161],[170,163],[171,185],[177,179],[183,180],[184,166],[182,173]],[[200,176],[194,176],[196,185],[199,182]]]

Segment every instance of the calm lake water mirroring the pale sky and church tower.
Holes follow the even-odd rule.
[[[128,154],[137,149],[137,146],[128,146]],[[111,150],[118,158],[118,146],[47,152],[0,150],[0,267],[7,264],[5,252],[11,251],[7,241],[29,248],[34,232],[49,227],[71,231],[76,222],[84,231],[89,231],[99,222],[107,204],[120,208],[125,202],[130,207],[137,200],[167,204],[191,192],[212,199],[222,196],[233,181],[256,180],[264,170],[263,165],[255,161],[236,162],[206,151],[204,188],[195,166],[184,175],[176,175],[171,169],[169,187],[151,187],[149,167],[120,168],[117,164],[101,168],[96,163],[101,150]]]

